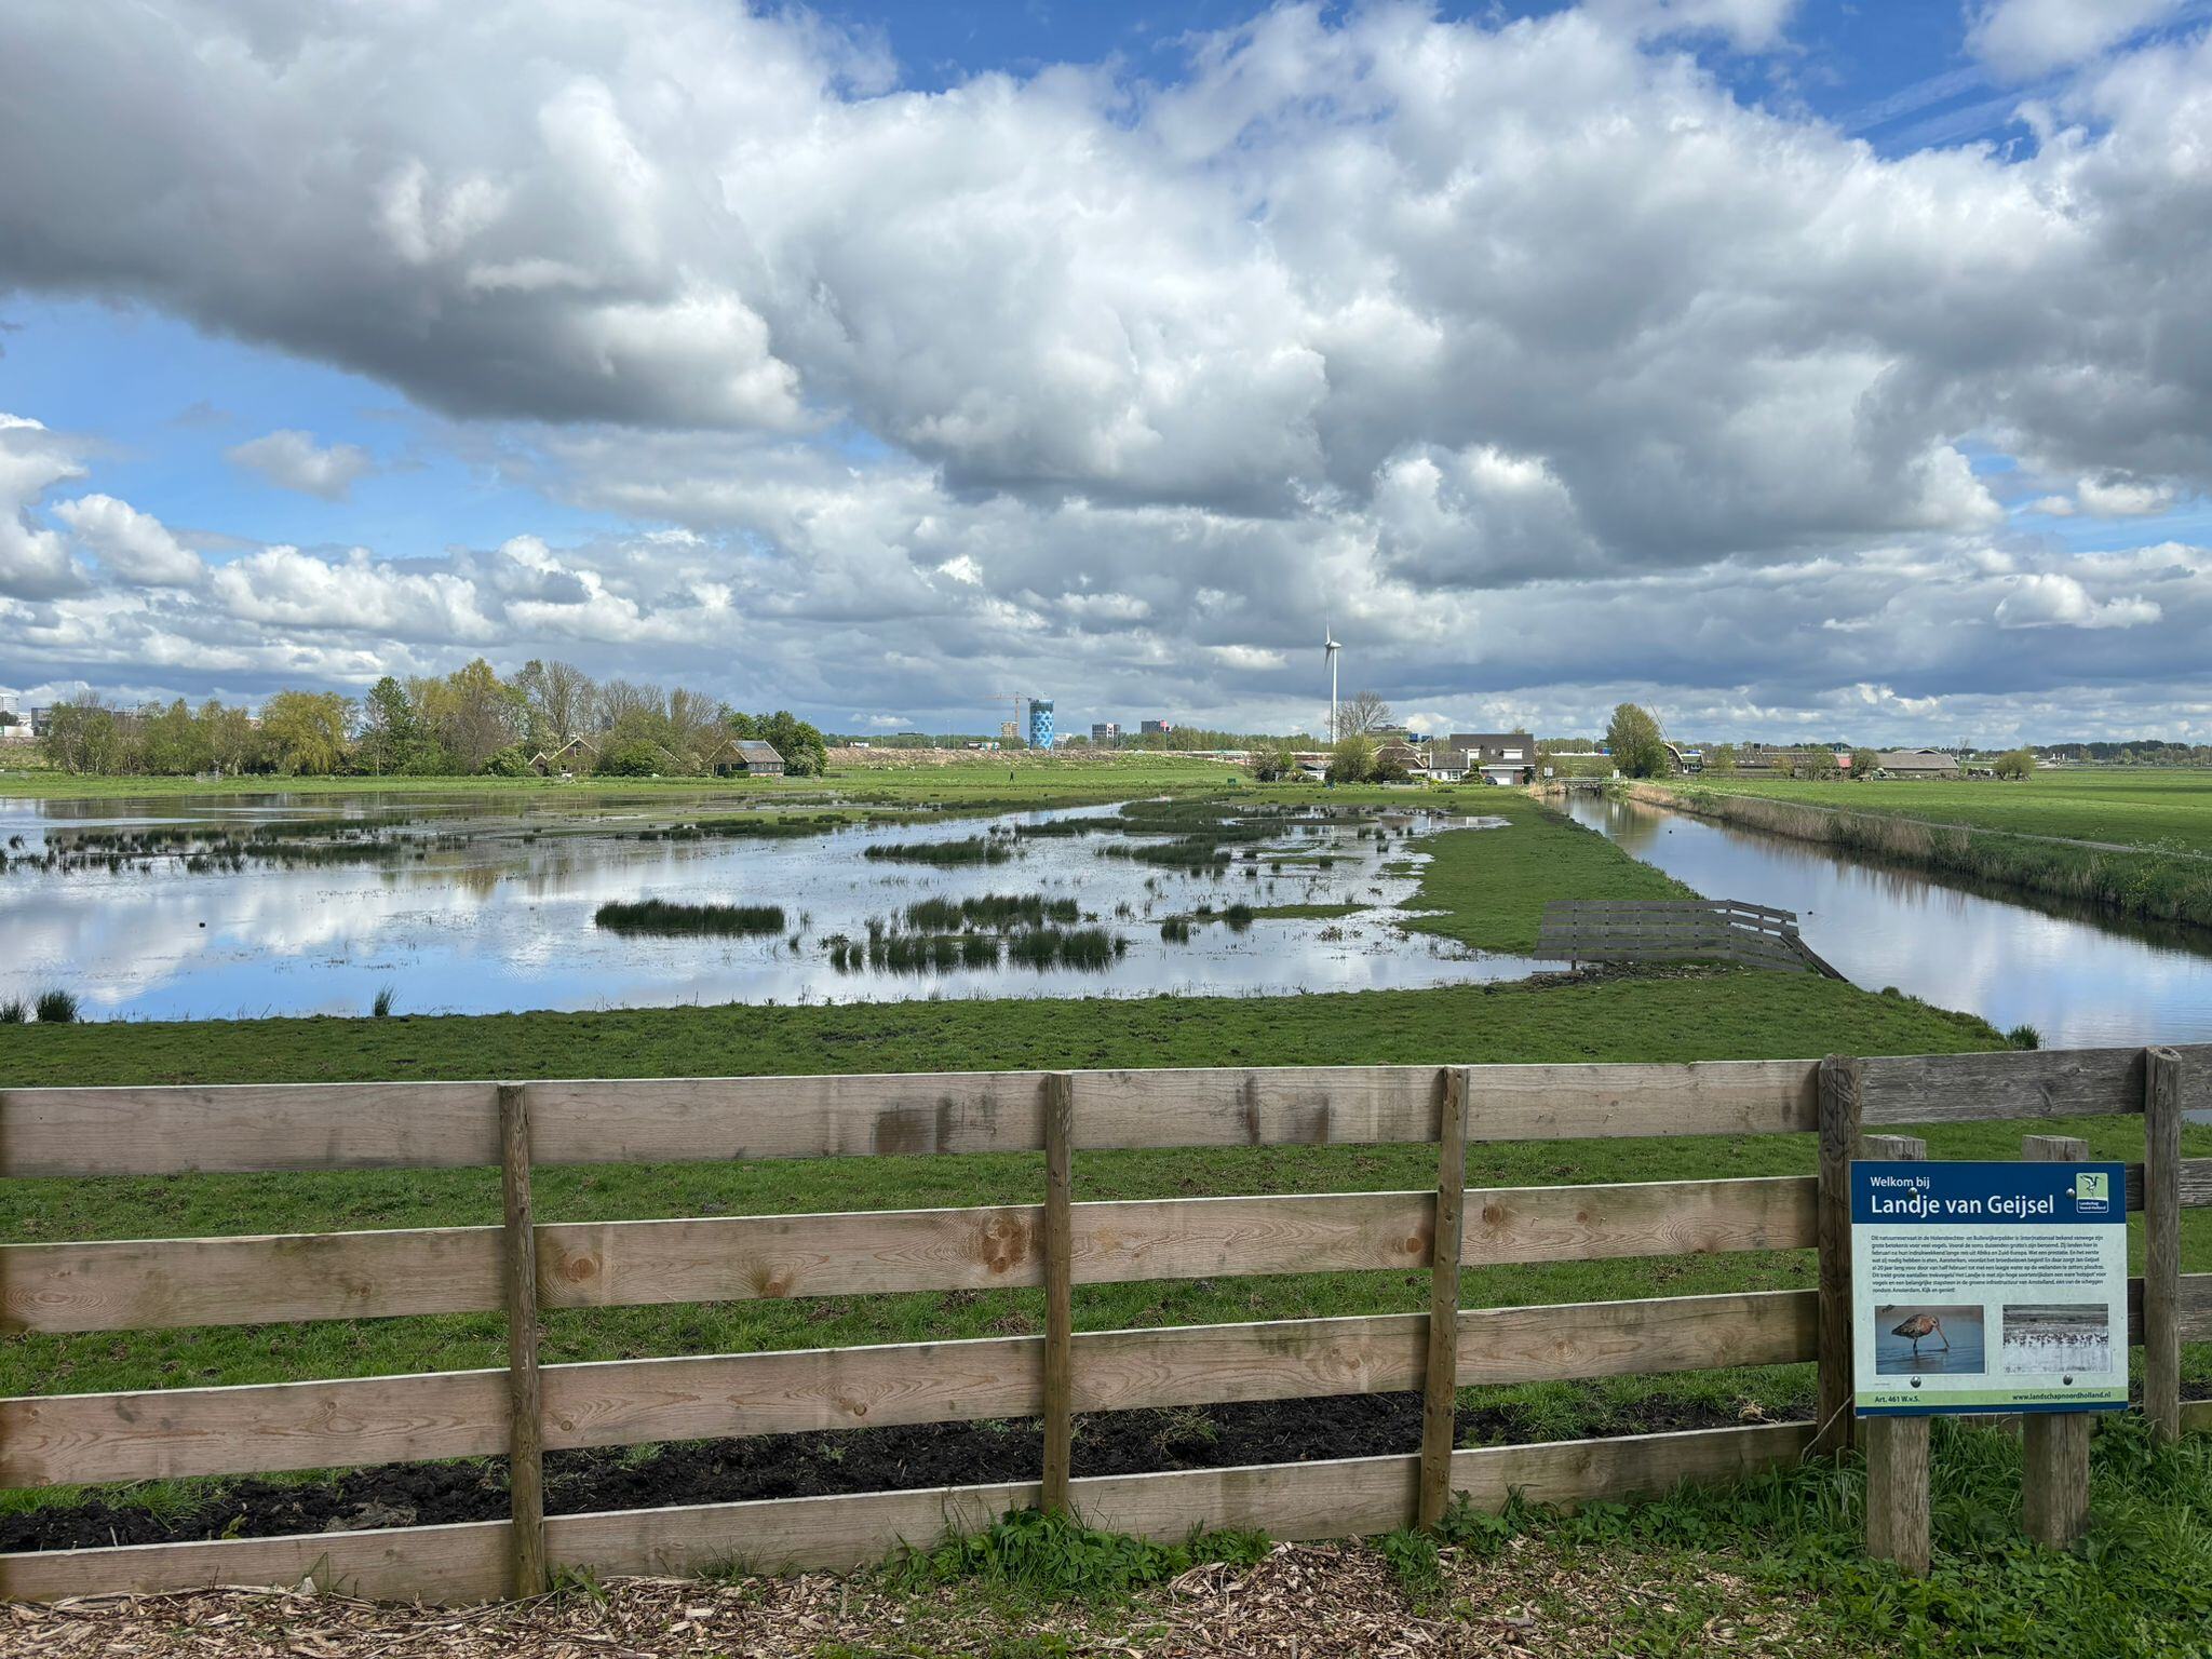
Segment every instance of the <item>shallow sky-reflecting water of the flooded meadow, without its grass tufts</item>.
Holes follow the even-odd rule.
[[[929,867],[869,860],[887,841],[962,841],[1022,823],[1104,816],[1110,807],[845,827],[776,841],[628,841],[650,823],[695,818],[661,803],[588,810],[513,796],[217,796],[161,801],[0,799],[0,843],[173,823],[299,818],[396,821],[400,863],[186,872],[159,858],[119,874],[11,869],[0,876],[0,1000],[49,984],[75,991],[88,1018],[232,1018],[365,1013],[392,987],[398,1013],[657,1006],[679,1002],[885,1002],[911,998],[1294,993],[1509,980],[1526,958],[1484,956],[1449,940],[1407,936],[1389,905],[1411,876],[1380,865],[1420,854],[1402,834],[1447,823],[1389,812],[1285,827],[1265,843],[1285,854],[1329,854],[1332,869],[1285,867],[1256,878],[1245,865],[1190,876],[1102,858],[1108,836],[1020,843],[1000,865]],[[1356,832],[1391,827],[1389,845]],[[1458,821],[1451,821],[1458,823]],[[1265,860],[1263,852],[1263,860]],[[867,936],[920,898],[973,894],[1075,898],[1128,940],[1104,969],[1020,967],[841,973],[832,933]],[[774,938],[637,938],[593,925],[611,900],[759,905],[787,911]],[[1190,945],[1159,938],[1166,916],[1210,902],[1336,905],[1371,909],[1343,920],[1254,920],[1248,931],[1199,925]],[[1128,916],[1117,916],[1126,907]],[[790,936],[799,936],[792,949]]]

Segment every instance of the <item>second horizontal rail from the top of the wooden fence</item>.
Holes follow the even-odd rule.
[[[2208,1161],[2212,1186],[2212,1161]],[[1077,1203],[1075,1283],[1425,1267],[1433,1192]],[[502,1305],[500,1228],[0,1248],[4,1329],[95,1332],[465,1314]],[[1812,1181],[1467,1194],[1471,1267],[1812,1243]],[[1042,1283],[1040,1208],[854,1210],[538,1228],[544,1307]]]

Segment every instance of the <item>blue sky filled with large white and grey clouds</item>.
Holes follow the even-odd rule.
[[[2212,0],[9,0],[0,688],[2212,741]]]

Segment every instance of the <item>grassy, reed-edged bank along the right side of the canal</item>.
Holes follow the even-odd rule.
[[[1778,799],[1765,787],[1710,783],[1639,783],[1635,799],[1672,805],[1719,823],[1814,841],[1845,854],[1916,865],[2031,894],[2097,905],[2121,916],[2212,927],[2212,858],[2183,847],[2077,847],[2037,838],[2035,830],[1984,830],[1931,823],[1898,812],[1858,807],[1860,790],[1878,785],[1803,785],[1834,794],[1823,801]],[[1902,783],[1898,790],[2013,785]],[[2022,785],[2026,787],[2026,785]],[[2208,807],[2212,810],[2212,807]]]

